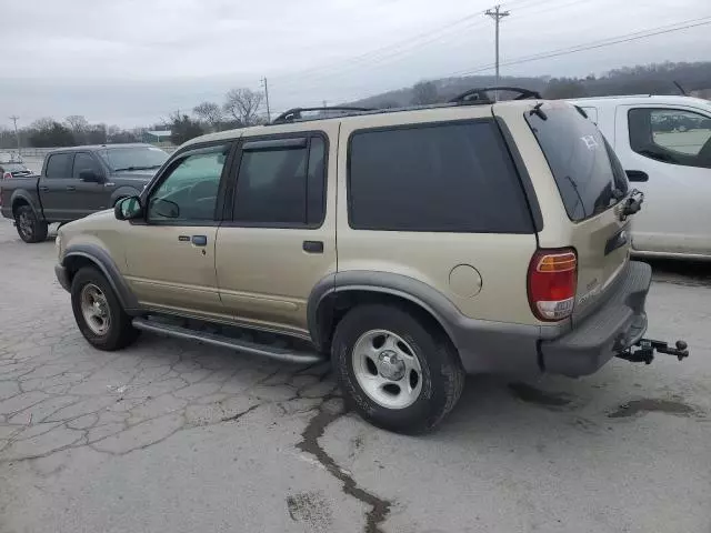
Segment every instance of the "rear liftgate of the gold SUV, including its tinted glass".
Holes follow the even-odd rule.
[[[527,110],[524,118],[548,161],[568,219],[561,225],[547,212],[544,220],[560,228],[560,245],[573,247],[578,255],[575,320],[597,308],[627,264],[629,219],[621,220],[619,204],[629,183],[600,130],[571,104],[544,103],[539,112]]]

